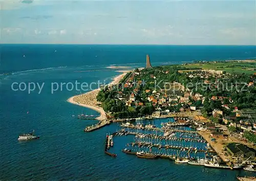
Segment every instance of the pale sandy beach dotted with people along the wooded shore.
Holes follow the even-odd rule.
[[[117,84],[125,76],[125,74],[126,73],[123,73],[123,74],[115,77],[113,79],[113,81],[111,83],[109,83],[108,85]],[[97,117],[96,119],[100,120],[100,121],[104,121],[104,120],[106,120],[105,111],[103,110],[103,108],[98,106],[98,104],[100,104],[100,102],[98,102],[96,100],[96,96],[98,95],[99,91],[100,91],[100,88],[97,88],[97,89],[94,89],[94,90],[92,90],[88,93],[73,96],[73,97],[69,98],[67,101],[72,103],[72,104],[76,104],[76,105],[79,105],[79,106],[83,106],[83,107],[87,107],[87,108],[96,110],[97,112],[100,113],[100,116]]]

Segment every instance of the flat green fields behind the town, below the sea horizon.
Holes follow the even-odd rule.
[[[248,69],[256,69],[256,62],[208,62],[208,63],[192,63],[181,65],[187,68],[213,69],[217,71],[226,71],[227,73],[245,73],[253,74],[256,71]]]

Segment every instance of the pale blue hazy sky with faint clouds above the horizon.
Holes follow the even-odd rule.
[[[256,45],[255,1],[0,0],[0,43]]]

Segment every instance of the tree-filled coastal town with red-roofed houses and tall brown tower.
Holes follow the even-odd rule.
[[[255,60],[248,62],[256,63]],[[229,163],[233,157],[253,162],[255,79],[255,73],[227,73],[225,69],[196,69],[185,65],[153,68],[147,56],[146,68],[127,73],[116,86],[102,86],[97,100],[108,120],[128,120],[128,126],[123,125],[131,129],[161,130],[154,125],[131,126],[129,120],[173,117],[178,118],[176,125],[182,125],[185,118],[189,119],[189,125],[224,162]]]

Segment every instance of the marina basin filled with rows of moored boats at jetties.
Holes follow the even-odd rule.
[[[175,125],[176,121],[168,118],[116,123],[117,129],[110,135],[111,139],[129,138],[130,142],[125,143],[121,152],[139,159],[167,159],[207,168],[243,169],[242,163],[226,162],[202,131],[196,131],[193,126]],[[113,145],[109,144],[108,149],[114,149]]]

